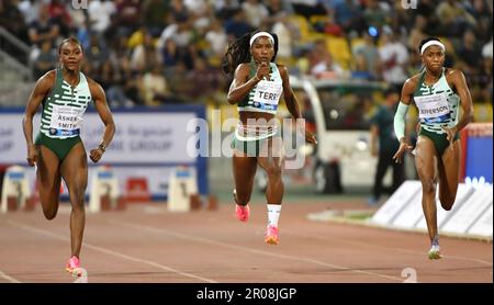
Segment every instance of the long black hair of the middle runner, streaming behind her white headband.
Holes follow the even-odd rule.
[[[222,60],[223,72],[232,76],[238,65],[250,61],[250,37],[258,32],[260,31],[247,33],[228,46],[228,49],[226,50],[225,56],[223,56]],[[274,61],[278,54],[278,36],[273,33],[269,34],[271,34],[272,38],[274,39],[274,55],[271,58],[271,61]]]

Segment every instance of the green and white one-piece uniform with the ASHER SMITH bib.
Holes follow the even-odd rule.
[[[56,70],[55,86],[43,101],[40,134],[36,145],[53,150],[63,160],[79,143],[82,115],[92,97],[88,80],[79,72],[79,83],[71,87],[64,80],[61,69]]]

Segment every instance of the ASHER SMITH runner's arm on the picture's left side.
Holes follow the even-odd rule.
[[[55,71],[49,71],[42,76],[34,89],[31,92],[31,97],[27,101],[27,105],[24,111],[24,118],[22,120],[22,128],[24,131],[25,144],[27,145],[27,162],[30,166],[34,166],[36,162],[36,148],[33,143],[33,116],[36,114],[40,104],[45,97],[52,90],[55,83]]]

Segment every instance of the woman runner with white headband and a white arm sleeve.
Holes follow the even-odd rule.
[[[439,180],[439,201],[450,211],[457,196],[460,179],[461,146],[459,132],[471,122],[473,103],[463,74],[444,68],[445,45],[435,37],[420,42],[418,52],[425,66],[403,86],[402,100],[394,116],[394,131],[400,148],[393,159],[401,161],[412,149],[405,137],[405,115],[412,101],[418,108],[418,134],[415,167],[422,182],[422,205],[430,238],[429,259],[439,259],[436,189]],[[460,108],[462,110],[460,116]]]

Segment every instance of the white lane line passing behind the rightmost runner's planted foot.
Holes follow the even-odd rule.
[[[290,231],[290,230],[283,230],[283,233],[290,234],[293,236],[304,237],[304,238],[313,238],[313,239],[319,239],[319,240],[326,240],[326,241],[334,240],[334,241],[345,242],[348,245],[371,247],[371,248],[382,249],[382,250],[386,250],[386,251],[393,250],[393,251],[397,251],[397,252],[418,255],[422,258],[427,256],[426,251],[419,252],[419,251],[414,251],[414,250],[408,250],[408,249],[403,249],[403,248],[394,248],[394,247],[389,247],[389,246],[373,245],[373,244],[369,244],[369,242],[349,240],[349,239],[338,238],[338,237],[333,237],[333,236],[305,235],[305,234],[294,233],[294,231]],[[467,258],[467,257],[459,257],[459,256],[446,256],[446,255],[442,255],[442,258],[444,259],[473,261],[473,262],[478,262],[478,263],[486,264],[486,266],[491,266],[491,267],[493,266],[492,261],[486,261],[486,260],[481,260],[481,259],[475,259],[475,258]]]

